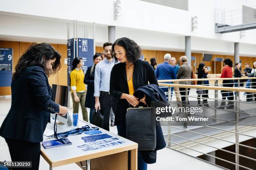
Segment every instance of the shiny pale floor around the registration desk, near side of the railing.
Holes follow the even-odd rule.
[[[0,99],[0,125],[2,125],[5,116],[10,109],[10,99]],[[69,110],[72,112],[72,110]],[[79,119],[82,120],[82,112],[79,110]],[[117,133],[116,127],[110,127],[110,131]],[[8,146],[5,140],[0,137],[0,161],[10,160],[10,154]],[[204,161],[197,160],[190,156],[184,155],[169,148],[164,148],[157,152],[157,162],[155,164],[149,164],[148,170],[218,170],[215,165],[205,163]],[[44,158],[40,159],[39,170],[49,170],[49,165]],[[79,170],[76,164],[65,165],[54,168],[54,170]]]

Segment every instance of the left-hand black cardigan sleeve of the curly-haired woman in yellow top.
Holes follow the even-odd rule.
[[[121,92],[121,91],[118,91],[118,90],[116,90],[116,89],[118,89],[118,74],[116,74],[116,72],[118,71],[117,70],[117,68],[118,68],[118,65],[114,65],[114,67],[112,68],[112,70],[111,70],[111,73],[110,73],[110,90],[109,90],[109,92],[110,92],[110,95],[112,96],[112,97],[114,97],[115,98],[115,100],[119,100],[120,99],[120,97],[121,97],[121,95],[124,93],[124,92]]]

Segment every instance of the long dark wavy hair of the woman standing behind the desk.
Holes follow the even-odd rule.
[[[47,60],[55,60],[52,69],[46,68]],[[23,53],[23,55],[18,60],[18,64],[15,67],[15,72],[13,73],[13,79],[19,77],[23,69],[31,66],[39,66],[48,75],[55,74],[61,68],[60,63],[61,55],[57,52],[54,47],[48,43],[32,44],[28,49]]]

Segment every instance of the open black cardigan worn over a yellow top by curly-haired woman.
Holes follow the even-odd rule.
[[[143,60],[137,60],[134,63],[133,87],[134,91],[143,85],[156,84],[157,79],[152,66]],[[123,93],[129,94],[129,88],[126,77],[125,62],[120,62],[111,70],[110,75],[110,95],[117,101],[115,109],[115,125],[125,124],[125,114],[129,107],[126,99],[120,99]]]

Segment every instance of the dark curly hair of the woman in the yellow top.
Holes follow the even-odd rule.
[[[126,57],[129,62],[135,63],[141,57],[141,47],[133,40],[123,37],[115,40],[114,44],[112,45],[112,52],[114,52],[115,57],[115,45],[119,45],[123,47],[126,51]],[[115,57],[115,60],[118,59]]]

